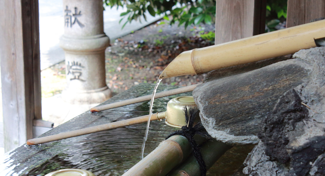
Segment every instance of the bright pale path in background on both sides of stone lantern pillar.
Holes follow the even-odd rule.
[[[123,29],[120,14],[126,9],[119,7],[106,7],[104,10],[104,31],[111,41],[136,31],[148,24],[159,20],[161,17],[152,17],[147,13],[147,21],[141,18],[142,23],[133,21]],[[59,38],[64,32],[64,14],[62,0],[39,0],[39,21],[40,21],[40,45],[41,45],[41,70],[44,70],[56,63],[64,61],[64,52],[59,47]],[[113,43],[113,42],[111,42]]]

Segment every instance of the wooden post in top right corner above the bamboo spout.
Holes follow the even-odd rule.
[[[325,0],[288,0],[287,28],[325,17]]]

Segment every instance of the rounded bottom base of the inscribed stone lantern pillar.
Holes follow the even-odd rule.
[[[112,92],[107,86],[88,91],[76,91],[69,89],[62,91],[63,100],[71,104],[93,104],[104,102],[111,97]]]

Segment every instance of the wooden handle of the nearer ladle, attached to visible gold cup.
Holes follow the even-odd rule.
[[[151,115],[150,121],[164,119],[165,117],[166,117],[166,112],[157,112],[157,113]],[[126,119],[126,120],[107,123],[107,124],[98,125],[98,126],[94,126],[94,127],[75,130],[75,131],[71,131],[71,132],[63,132],[63,133],[54,134],[54,135],[50,135],[50,136],[34,138],[34,139],[28,140],[26,143],[27,143],[27,145],[44,144],[47,142],[58,141],[61,139],[67,139],[67,138],[81,136],[81,135],[90,134],[90,133],[94,133],[94,132],[101,132],[101,131],[106,131],[106,130],[111,130],[111,129],[115,129],[115,128],[129,126],[129,125],[135,125],[135,124],[139,124],[139,123],[148,121],[148,118],[149,118],[149,115],[145,115],[145,116],[136,117],[136,118],[132,118],[132,119]]]

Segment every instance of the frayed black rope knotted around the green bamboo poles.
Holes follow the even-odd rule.
[[[188,140],[189,144],[191,145],[191,147],[193,149],[192,153],[193,153],[194,157],[196,158],[196,160],[198,161],[198,164],[200,166],[201,176],[206,176],[206,171],[207,171],[206,165],[204,163],[204,160],[203,160],[203,157],[201,154],[201,150],[200,150],[199,146],[196,144],[193,137],[195,134],[204,136],[207,139],[212,139],[212,137],[208,134],[208,132],[205,131],[201,122],[198,122],[193,127],[195,117],[196,117],[197,113],[199,112],[199,109],[197,107],[183,107],[183,111],[185,114],[186,124],[188,124],[188,125],[182,126],[181,130],[175,131],[175,132],[169,134],[168,137],[166,137],[166,139],[168,139],[169,137],[176,135],[176,134],[186,137],[186,139]]]

